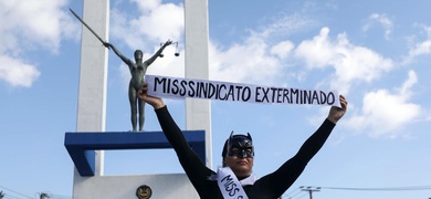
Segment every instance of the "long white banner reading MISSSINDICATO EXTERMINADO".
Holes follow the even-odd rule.
[[[148,83],[149,95],[166,98],[192,97],[232,102],[313,104],[340,107],[339,95],[336,91],[259,86],[154,75],[146,75],[145,80]]]

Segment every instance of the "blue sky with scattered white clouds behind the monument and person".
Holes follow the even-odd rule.
[[[109,42],[133,56],[167,48],[149,74],[183,72],[182,1],[111,1]],[[71,198],[73,163],[64,133],[75,132],[82,1],[0,1],[0,190],[7,198]],[[210,78],[337,90],[349,109],[324,148],[286,191],[322,187],[318,199],[431,197],[431,18],[429,1],[209,1]],[[101,44],[101,48],[102,44]],[[127,67],[111,51],[107,132],[130,129]],[[185,127],[185,103],[167,100]],[[213,167],[231,130],[250,132],[253,171],[292,157],[329,107],[211,102]],[[159,130],[146,107],[147,130]],[[106,175],[182,172],[171,150],[106,151]],[[345,189],[347,188],[347,189]],[[360,190],[351,190],[360,189]],[[395,190],[381,190],[392,189]],[[412,189],[412,190],[399,190]],[[370,190],[377,189],[377,190]]]

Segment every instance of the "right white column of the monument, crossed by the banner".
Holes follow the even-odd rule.
[[[209,78],[208,0],[185,0],[186,77]],[[186,128],[206,130],[207,166],[212,167],[211,104],[208,100],[186,100]]]

